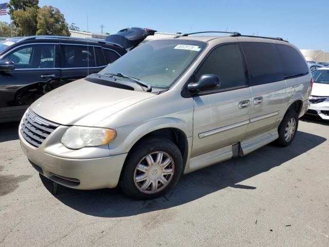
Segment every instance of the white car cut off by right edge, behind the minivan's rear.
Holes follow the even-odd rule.
[[[307,114],[329,120],[329,67],[314,70],[312,76],[313,89]]]

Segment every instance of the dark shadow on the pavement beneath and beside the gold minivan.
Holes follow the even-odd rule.
[[[137,201],[126,197],[118,189],[75,190],[58,186],[56,197],[65,205],[81,213],[98,217],[126,217],[175,207],[205,197],[226,187],[237,189],[257,189],[244,185],[243,181],[266,172],[273,167],[305,153],[321,143],[325,138],[298,131],[289,147],[278,148],[269,144],[245,157],[204,168],[182,175],[177,185],[165,196],[148,201]],[[41,180],[50,192],[52,182],[42,175]]]

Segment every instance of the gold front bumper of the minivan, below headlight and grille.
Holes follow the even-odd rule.
[[[26,142],[20,131],[19,138],[24,154],[37,171],[54,182],[75,189],[116,187],[127,155],[93,157],[88,153],[92,158],[59,157],[45,152],[49,149],[48,138],[38,148]]]

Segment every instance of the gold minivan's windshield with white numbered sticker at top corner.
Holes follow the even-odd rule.
[[[191,40],[150,41],[129,51],[99,74],[134,77],[152,87],[168,88],[195,61],[206,43]]]

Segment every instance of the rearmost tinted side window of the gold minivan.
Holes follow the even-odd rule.
[[[308,74],[308,67],[300,53],[293,47],[277,45],[282,59],[285,77],[302,76]]]

